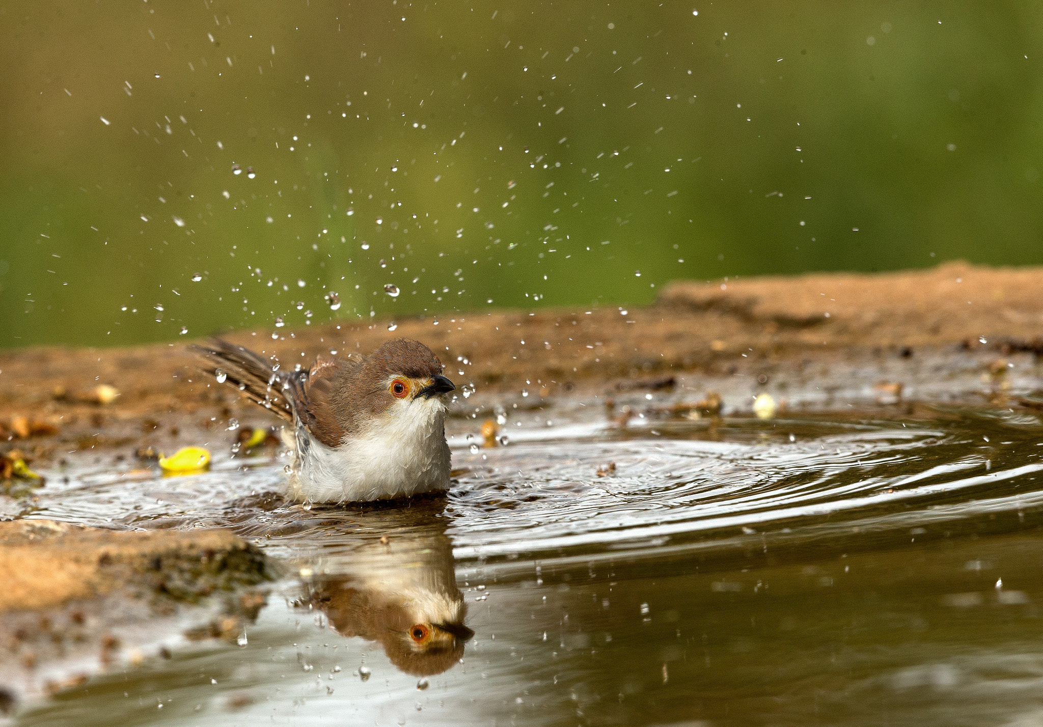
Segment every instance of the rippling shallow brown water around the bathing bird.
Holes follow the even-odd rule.
[[[286,505],[282,460],[77,470],[28,516],[231,527],[285,577],[245,646],[167,639],[20,724],[1043,723],[1040,420],[880,411],[559,411],[478,452],[456,420],[465,471],[405,507]],[[462,653],[403,650],[405,592],[466,605]]]

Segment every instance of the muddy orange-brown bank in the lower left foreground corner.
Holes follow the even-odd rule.
[[[0,712],[169,654],[171,639],[235,640],[269,578],[264,557],[223,530],[0,523]]]

